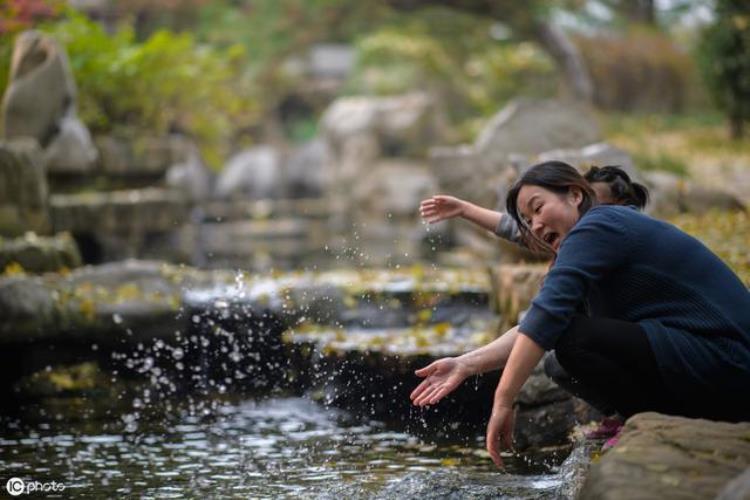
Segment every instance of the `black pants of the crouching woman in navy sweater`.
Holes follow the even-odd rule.
[[[576,316],[545,371],[558,385],[605,415],[643,411],[718,420],[747,419],[738,395],[696,394],[680,400],[664,384],[646,332],[637,323]]]

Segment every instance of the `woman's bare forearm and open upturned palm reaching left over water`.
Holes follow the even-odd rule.
[[[513,344],[518,336],[518,327],[511,328],[486,346],[475,349],[457,358],[442,358],[415,373],[424,380],[409,396],[416,406],[433,405],[453,392],[471,375],[478,375],[505,366]]]

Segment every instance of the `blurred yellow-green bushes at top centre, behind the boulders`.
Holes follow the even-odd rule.
[[[549,95],[557,79],[552,61],[530,43],[499,42],[491,20],[450,9],[402,14],[358,40],[349,93],[388,95],[414,90],[436,95],[459,130],[477,125],[517,95]]]

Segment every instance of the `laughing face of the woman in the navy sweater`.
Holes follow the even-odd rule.
[[[580,217],[583,200],[579,189],[557,194],[539,186],[526,185],[518,192],[518,212],[534,235],[557,252],[560,243]]]

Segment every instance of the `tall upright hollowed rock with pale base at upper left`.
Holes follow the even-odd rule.
[[[65,51],[37,32],[19,35],[3,99],[6,138],[33,137],[44,148],[48,172],[87,172],[97,152],[76,117],[76,88]]]

